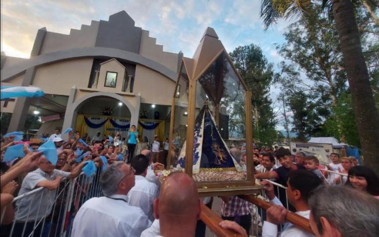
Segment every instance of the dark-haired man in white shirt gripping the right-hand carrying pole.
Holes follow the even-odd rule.
[[[277,225],[284,224],[288,210],[283,207],[279,199],[274,194],[273,185],[268,181],[262,181],[261,184],[269,185],[265,188],[266,195],[273,203],[272,207],[267,209],[267,219],[263,222],[262,237],[276,237]],[[287,180],[288,202],[296,209],[296,214],[309,219],[310,208],[308,198],[311,192],[318,186],[322,185],[321,180],[313,172],[308,170],[292,171]],[[295,225],[287,222],[280,233],[281,237],[308,237],[314,236]]]

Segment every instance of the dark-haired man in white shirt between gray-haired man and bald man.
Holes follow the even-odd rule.
[[[143,154],[136,155],[130,163],[135,170],[135,185],[128,192],[128,203],[139,207],[154,221],[153,203],[158,198],[159,187],[146,178],[149,161]]]

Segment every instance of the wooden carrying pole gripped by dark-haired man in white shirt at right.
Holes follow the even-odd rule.
[[[268,209],[271,207],[273,204],[266,202],[264,200],[256,198],[254,195],[239,195],[239,198],[244,199],[260,208],[263,209]],[[286,220],[288,222],[291,222],[292,224],[296,225],[297,227],[314,234],[310,225],[309,225],[309,220],[305,217],[302,217],[296,213],[293,212],[288,212],[286,216]]]

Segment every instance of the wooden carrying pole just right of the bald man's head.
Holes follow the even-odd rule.
[[[242,237],[244,235],[233,230],[222,228],[219,223],[223,221],[216,213],[207,206],[203,205],[200,213],[200,219],[208,226],[208,228],[218,237],[235,236]]]

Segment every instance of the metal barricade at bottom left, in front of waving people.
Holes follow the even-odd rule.
[[[101,168],[90,177],[82,173],[74,179],[62,179],[56,190],[39,187],[17,196],[1,213],[2,236],[70,236],[80,206],[90,198],[103,195],[100,175]],[[3,224],[7,208],[14,207],[13,222]]]

